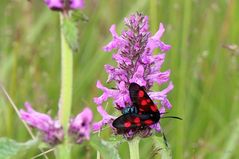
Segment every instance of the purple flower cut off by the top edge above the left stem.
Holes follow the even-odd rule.
[[[58,11],[82,9],[84,7],[83,0],[44,0],[44,2],[48,8]]]

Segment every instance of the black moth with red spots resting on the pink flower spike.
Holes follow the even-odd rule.
[[[130,83],[129,95],[132,105],[124,108],[120,117],[112,123],[117,132],[125,133],[129,130],[144,129],[155,124],[160,119],[160,113],[144,87],[137,83]]]

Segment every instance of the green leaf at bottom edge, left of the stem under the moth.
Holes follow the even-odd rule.
[[[115,141],[109,142],[100,139],[98,136],[93,136],[91,137],[90,145],[99,151],[104,159],[120,159]]]

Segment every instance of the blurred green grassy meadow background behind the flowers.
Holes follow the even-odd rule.
[[[105,84],[104,64],[115,64],[102,46],[111,40],[108,29],[124,17],[143,12],[153,33],[165,25],[162,38],[172,45],[162,70],[171,69],[175,88],[169,94],[169,115],[183,121],[161,121],[176,159],[239,157],[239,1],[237,0],[85,0],[80,22],[79,51],[74,54],[73,115],[93,103],[96,81]],[[29,101],[40,112],[56,116],[60,89],[59,15],[43,0],[0,1],[0,81],[17,107]],[[108,112],[114,109],[108,106]],[[0,93],[0,136],[19,142],[30,138],[9,101]],[[104,129],[102,137],[111,137]],[[87,144],[86,144],[87,145]],[[149,158],[150,139],[140,143],[141,158]],[[119,147],[128,158],[127,144]],[[32,150],[24,158],[39,154]],[[50,158],[53,153],[49,153]],[[73,158],[95,158],[90,146],[75,146]],[[40,157],[41,158],[41,157]],[[154,158],[154,157],[151,157]]]

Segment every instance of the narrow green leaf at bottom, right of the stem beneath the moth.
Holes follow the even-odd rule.
[[[172,159],[171,150],[164,136],[153,136],[155,155],[160,155],[161,159]]]

